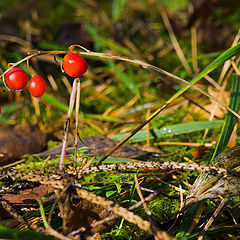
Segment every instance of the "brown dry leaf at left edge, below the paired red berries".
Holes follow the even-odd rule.
[[[24,154],[39,153],[46,146],[46,134],[37,126],[23,122],[19,125],[0,125],[0,166],[14,162]]]

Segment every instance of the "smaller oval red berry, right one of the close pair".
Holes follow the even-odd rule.
[[[41,97],[46,91],[46,83],[40,76],[34,76],[29,81],[28,90],[33,97]]]

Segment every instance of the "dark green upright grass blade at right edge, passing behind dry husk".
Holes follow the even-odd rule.
[[[240,105],[240,76],[234,76],[229,107],[231,107],[234,111],[237,112],[239,109],[239,105]],[[212,161],[219,153],[221,153],[226,148],[236,122],[237,118],[232,113],[228,112],[224,119],[220,139],[210,161]],[[190,230],[192,229],[193,223],[196,222],[197,218],[196,216],[198,216],[202,211],[205,202],[206,202],[205,200],[198,202],[189,209],[189,211],[185,214],[184,220],[180,226],[179,233],[176,235],[176,237],[178,238],[183,237],[181,239],[185,240],[184,236],[189,234]]]

